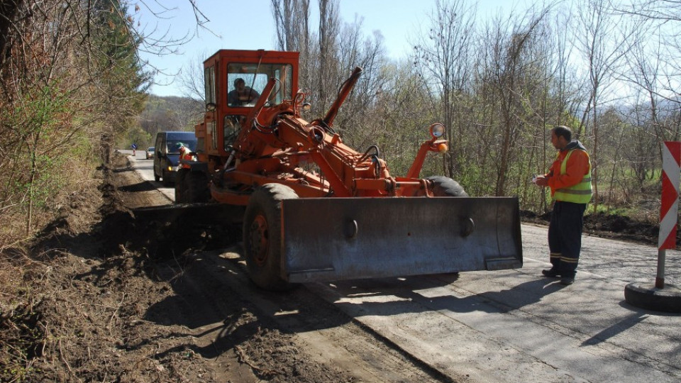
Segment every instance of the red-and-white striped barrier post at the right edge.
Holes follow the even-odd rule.
[[[679,213],[679,179],[681,176],[681,142],[665,141],[662,152],[662,204],[658,237],[658,274],[655,287],[665,287],[666,249],[676,248]]]

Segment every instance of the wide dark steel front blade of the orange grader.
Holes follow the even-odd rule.
[[[523,265],[510,197],[282,201],[282,278],[398,277]]]

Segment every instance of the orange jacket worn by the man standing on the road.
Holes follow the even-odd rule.
[[[563,164],[565,156],[572,149],[576,150],[573,150],[570,158],[567,159],[565,174],[560,174],[560,165]],[[544,174],[544,177],[548,179],[548,187],[551,188],[551,196],[558,189],[572,187],[582,182],[589,170],[591,170],[591,165],[586,148],[578,140],[571,141],[565,146],[565,149],[558,152],[558,156],[555,157],[548,173]]]

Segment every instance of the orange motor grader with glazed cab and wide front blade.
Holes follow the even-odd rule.
[[[362,70],[323,118],[306,121],[297,52],[219,50],[204,62],[206,113],[196,161],[177,174],[177,204],[241,206],[250,278],[265,289],[296,282],[521,267],[518,201],[470,197],[447,177],[420,179],[428,152],[447,149],[444,127],[405,177],[380,150],[343,143],[333,121]]]

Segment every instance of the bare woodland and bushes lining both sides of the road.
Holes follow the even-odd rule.
[[[187,1],[201,28],[206,10]],[[310,119],[363,68],[334,127],[359,151],[377,145],[392,174],[406,173],[441,122],[450,150],[431,156],[422,177],[446,175],[472,196],[518,196],[521,209],[544,213],[550,196],[529,180],[553,161],[550,128],[565,125],[591,155],[589,212],[657,221],[662,145],[681,128],[681,1],[555,1],[481,23],[474,1],[438,0],[399,62],[380,33],[341,19],[338,0],[318,2],[311,25],[309,0],[271,0],[277,49],[301,53]],[[181,97],[148,94],[157,69],[140,52],[196,42],[144,34],[140,7],[159,4],[0,4],[0,251],[96,194],[115,148],[145,148],[157,131],[192,131],[201,119],[199,61],[179,74]]]

